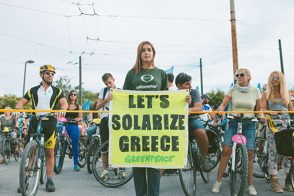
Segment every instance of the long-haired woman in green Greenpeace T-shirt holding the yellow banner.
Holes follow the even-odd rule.
[[[152,43],[143,41],[137,50],[137,59],[133,68],[128,71],[124,90],[133,91],[166,91],[168,90],[167,74],[162,69],[154,66],[155,50]],[[112,100],[109,93],[108,101]],[[191,96],[186,97],[186,102],[191,103]],[[190,104],[189,103],[189,104]],[[148,183],[146,181],[145,167],[133,167],[134,185],[137,196],[159,195],[160,170],[147,168]],[[147,194],[148,191],[148,194]]]

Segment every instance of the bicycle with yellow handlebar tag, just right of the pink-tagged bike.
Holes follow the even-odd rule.
[[[90,125],[92,126],[93,126],[93,123],[96,124],[95,126],[98,126],[100,122],[101,122],[101,119],[99,118],[88,120],[88,123],[90,123]],[[96,133],[93,135],[93,138],[90,141],[90,144],[88,145],[88,150],[87,150],[87,170],[90,174],[93,173],[93,170],[92,170],[93,155],[96,149],[100,146],[100,144],[101,144],[100,134],[96,128]]]

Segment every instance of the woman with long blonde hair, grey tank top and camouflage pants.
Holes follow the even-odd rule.
[[[268,86],[266,87],[266,91],[262,94],[262,106],[263,111],[294,111],[293,105],[291,103],[291,94],[289,91],[287,91],[285,78],[283,73],[279,71],[273,71],[270,73],[270,76],[268,77]],[[271,118],[275,119],[277,116],[277,113],[266,113],[268,115],[271,115]],[[290,115],[289,113],[279,113],[279,116],[281,119],[276,119],[274,122],[276,124],[282,123],[283,125],[286,125],[287,122],[290,123]],[[285,129],[284,127],[277,127],[279,131]],[[278,153],[275,145],[275,137],[273,131],[267,126],[266,128],[266,135],[269,145],[269,157],[268,157],[268,163],[270,167],[270,174],[272,176],[271,182],[270,182],[270,189],[275,192],[283,192],[282,187],[280,186],[280,183],[278,182]],[[288,176],[289,169],[290,169],[290,163],[288,163],[288,160],[286,157],[283,159],[284,163],[284,172],[286,173],[286,176]],[[285,188],[288,191],[293,192],[292,186],[290,185],[290,182],[287,182],[285,180]]]

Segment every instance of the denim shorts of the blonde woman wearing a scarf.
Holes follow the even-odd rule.
[[[225,135],[223,140],[223,145],[228,145],[233,147],[232,137],[234,134],[237,134],[238,122],[234,119],[228,120],[225,125]],[[228,127],[227,127],[228,126]],[[242,125],[242,135],[246,137],[247,150],[254,150],[254,141],[255,141],[255,123],[248,121]]]

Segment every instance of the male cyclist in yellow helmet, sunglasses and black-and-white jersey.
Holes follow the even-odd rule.
[[[24,97],[16,104],[15,109],[20,109],[30,100],[32,100],[32,106],[34,110],[56,110],[57,102],[61,104],[61,110],[67,110],[68,104],[62,90],[58,87],[52,86],[53,77],[55,74],[55,68],[52,65],[44,65],[40,67],[40,77],[42,82],[24,95]],[[33,112],[34,115],[42,115],[47,112]],[[19,112],[13,112],[12,116],[18,118]],[[64,117],[65,112],[59,112],[58,117]],[[44,119],[42,120],[42,129],[44,133],[44,147],[46,154],[46,167],[47,167],[47,191],[55,191],[54,183],[52,182],[53,168],[54,168],[54,145],[57,135],[56,122],[54,119]],[[35,120],[31,120],[28,135],[34,133],[37,130],[37,124]],[[26,139],[27,143],[30,141],[30,137]],[[20,188],[17,192],[21,192]]]

